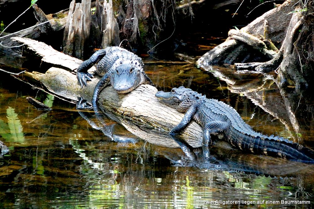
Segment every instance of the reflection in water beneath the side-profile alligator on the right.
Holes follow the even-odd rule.
[[[269,156],[244,154],[223,141],[211,147],[193,148],[180,138],[173,137],[180,145],[180,152],[158,153],[169,159],[174,166],[197,167],[207,170],[254,173],[265,176],[291,177],[313,175],[314,165]],[[293,168],[293,169],[291,169]],[[310,180],[310,179],[308,179]]]

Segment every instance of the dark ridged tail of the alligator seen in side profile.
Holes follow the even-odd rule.
[[[232,133],[231,133],[232,132]],[[298,143],[279,136],[267,136],[256,132],[241,133],[229,130],[228,141],[243,151],[264,154],[284,159],[314,163],[314,151]]]

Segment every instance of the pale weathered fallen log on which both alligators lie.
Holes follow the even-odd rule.
[[[14,37],[15,41],[22,42],[42,56],[42,60],[54,66],[63,66],[66,69],[76,69],[81,60],[72,58],[54,50],[46,44],[32,39]],[[45,74],[38,72],[26,72],[23,76],[40,81],[53,94],[77,101],[79,96],[91,101],[91,96],[99,77],[95,76],[88,82],[87,87],[81,89],[76,75],[60,67],[51,67]],[[20,76],[22,77],[22,76]],[[140,85],[128,94],[117,94],[111,87],[106,87],[100,92],[99,107],[111,113],[128,131],[139,136],[143,140],[167,147],[179,147],[168,132],[178,124],[183,114],[166,106],[155,97],[157,89],[150,85]],[[202,129],[192,122],[180,135],[193,147],[202,145]]]

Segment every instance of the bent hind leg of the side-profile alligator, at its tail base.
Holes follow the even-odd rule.
[[[204,131],[203,131],[203,145],[208,146],[212,144],[212,140],[210,138],[210,135],[217,135],[219,133],[224,133],[225,130],[228,128],[229,124],[224,121],[214,120],[211,122],[208,122],[204,125]]]

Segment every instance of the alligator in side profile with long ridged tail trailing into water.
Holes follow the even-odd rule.
[[[267,136],[255,132],[235,109],[224,102],[207,99],[191,89],[180,86],[171,92],[158,91],[156,97],[163,103],[186,113],[174,127],[171,135],[180,133],[192,120],[203,127],[203,145],[211,144],[210,135],[225,135],[225,139],[243,151],[282,157],[289,160],[314,163],[314,152],[279,136]]]

